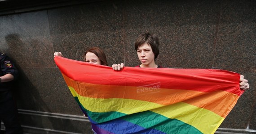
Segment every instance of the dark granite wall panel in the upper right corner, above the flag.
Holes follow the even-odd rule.
[[[256,67],[256,2],[223,2],[215,67]]]

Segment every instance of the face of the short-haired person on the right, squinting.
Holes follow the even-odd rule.
[[[144,43],[138,47],[137,54],[143,65],[149,66],[150,64],[154,64],[154,53],[151,46],[147,43]]]

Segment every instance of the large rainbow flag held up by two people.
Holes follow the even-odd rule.
[[[225,70],[54,60],[97,134],[213,134],[243,94]]]

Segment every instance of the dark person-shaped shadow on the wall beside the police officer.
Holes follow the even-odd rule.
[[[25,71],[29,71],[29,68],[25,67],[24,62],[26,59],[26,49],[24,48],[26,47],[25,43],[22,42],[18,34],[9,34],[5,36],[5,41],[8,45],[7,53],[13,60],[19,72],[19,77],[15,86],[16,89],[14,91],[17,98],[18,109],[49,111],[47,105],[44,104],[44,101],[40,97],[39,92],[37,92],[37,88],[26,75]],[[23,119],[22,116],[20,118],[22,125],[33,124],[33,126],[43,126],[42,122],[39,121],[40,118],[37,118],[37,121],[31,120],[30,122],[23,122],[26,121],[26,119]]]

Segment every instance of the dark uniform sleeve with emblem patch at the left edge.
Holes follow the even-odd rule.
[[[9,57],[5,54],[0,54],[0,63],[1,63],[1,72],[0,76],[6,74],[12,74],[14,76],[14,80],[18,77],[18,70],[14,66],[13,62],[9,59]]]

